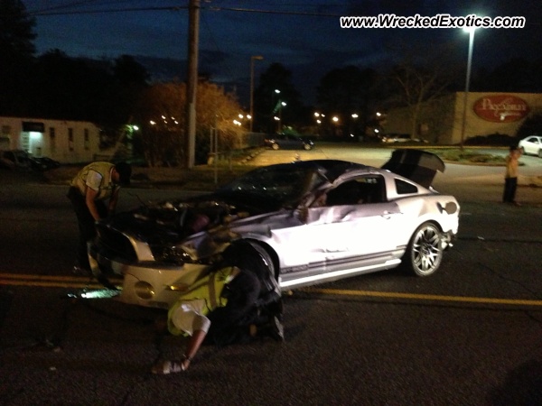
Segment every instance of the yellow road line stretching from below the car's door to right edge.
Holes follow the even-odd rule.
[[[446,295],[427,295],[418,293],[399,293],[389,291],[347,291],[341,289],[319,289],[304,288],[301,291],[310,293],[322,293],[328,295],[341,296],[365,296],[374,298],[393,298],[407,300],[440,300],[440,301],[458,301],[468,303],[485,304],[506,304],[516,306],[542,306],[542,300],[523,300],[523,299],[498,299],[498,298],[477,298],[472,296],[446,296]]]

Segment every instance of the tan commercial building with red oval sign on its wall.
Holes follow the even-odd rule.
[[[490,134],[515,136],[529,115],[542,113],[542,94],[457,92],[420,106],[416,125],[414,107],[388,111],[382,123],[386,134],[410,134],[430,143],[458,144]]]

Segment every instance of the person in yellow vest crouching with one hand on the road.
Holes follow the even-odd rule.
[[[260,281],[253,272],[236,266],[210,272],[194,283],[168,311],[169,332],[175,336],[190,336],[184,355],[178,361],[158,362],[151,372],[186,371],[206,337],[215,344],[226,337],[229,344],[241,330],[255,335],[260,289]]]

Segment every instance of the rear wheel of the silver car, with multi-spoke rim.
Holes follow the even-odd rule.
[[[438,270],[443,255],[441,231],[434,223],[427,222],[417,227],[410,238],[403,263],[416,276],[429,276]]]

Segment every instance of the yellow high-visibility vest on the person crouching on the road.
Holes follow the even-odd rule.
[[[189,300],[205,300],[205,308],[202,313],[203,316],[209,314],[212,310],[222,308],[226,306],[228,300],[221,296],[224,286],[233,280],[238,275],[240,270],[236,266],[230,266],[227,268],[221,268],[216,272],[210,272],[200,280],[196,281],[189,291],[185,291],[179,297],[173,306],[168,311],[168,320],[172,319],[173,313],[182,306],[182,303]],[[182,334],[182,331],[175,331],[175,328],[171,322],[168,323],[170,331],[174,334]]]

